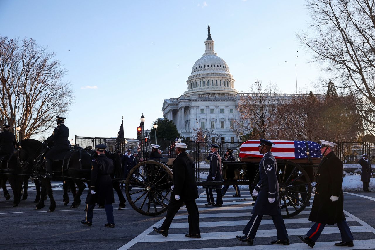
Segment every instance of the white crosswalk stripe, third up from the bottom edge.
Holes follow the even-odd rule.
[[[199,217],[201,218],[201,217]],[[217,217],[220,218],[220,217]],[[250,219],[250,218],[249,218]],[[347,221],[354,221],[354,219],[347,217]],[[228,226],[245,226],[249,220],[231,220],[231,221],[199,221],[199,227],[228,227]],[[292,223],[314,223],[308,218],[295,218],[284,220],[285,224]],[[161,224],[161,223],[160,223]],[[273,224],[273,220],[262,220],[261,225]],[[169,228],[189,228],[189,223],[172,223]]]

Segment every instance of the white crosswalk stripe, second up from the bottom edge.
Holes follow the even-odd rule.
[[[200,225],[200,223],[199,223]],[[350,226],[350,231],[352,233],[360,233],[360,232],[370,232],[364,226]],[[310,228],[293,228],[287,229],[288,236],[291,235],[303,235],[304,233],[308,232]],[[340,233],[338,227],[326,227],[324,228],[322,234],[329,234],[329,233]],[[243,235],[241,231],[237,232],[213,232],[213,233],[201,233],[200,239],[196,238],[186,238],[184,233],[177,233],[177,234],[168,234],[168,237],[165,238],[160,234],[152,234],[147,235],[143,239],[138,242],[160,242],[160,241],[191,241],[191,240],[212,240],[212,239],[233,239],[236,238],[236,235]],[[271,237],[277,236],[276,229],[269,229],[269,230],[258,230],[257,237]]]

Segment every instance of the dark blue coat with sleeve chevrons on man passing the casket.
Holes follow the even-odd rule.
[[[279,203],[279,182],[277,179],[276,159],[271,152],[263,155],[259,163],[259,182],[255,190],[259,192],[252,211],[255,215],[279,215],[281,208]],[[270,203],[268,198],[275,199]]]

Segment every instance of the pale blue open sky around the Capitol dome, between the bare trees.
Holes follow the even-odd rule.
[[[208,24],[215,51],[240,92],[260,79],[276,83],[281,93],[295,93],[296,64],[299,88],[314,90],[320,71],[308,63],[295,35],[308,27],[303,4],[0,0],[0,35],[35,39],[68,70],[64,80],[71,81],[75,95],[66,117],[70,139],[116,136],[121,116],[125,137],[134,138],[142,113],[149,128],[162,117],[163,100],[187,90]]]

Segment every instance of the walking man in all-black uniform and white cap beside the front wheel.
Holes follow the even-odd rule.
[[[186,154],[187,145],[185,143],[177,143],[175,153],[176,159],[173,161],[173,185],[171,187],[171,201],[168,204],[165,220],[161,227],[153,227],[154,231],[168,235],[169,226],[174,216],[185,203],[187,213],[189,214],[187,221],[189,223],[189,233],[185,236],[188,238],[201,238],[199,230],[199,212],[195,199],[198,198],[198,189],[195,184],[194,164],[188,154]]]

